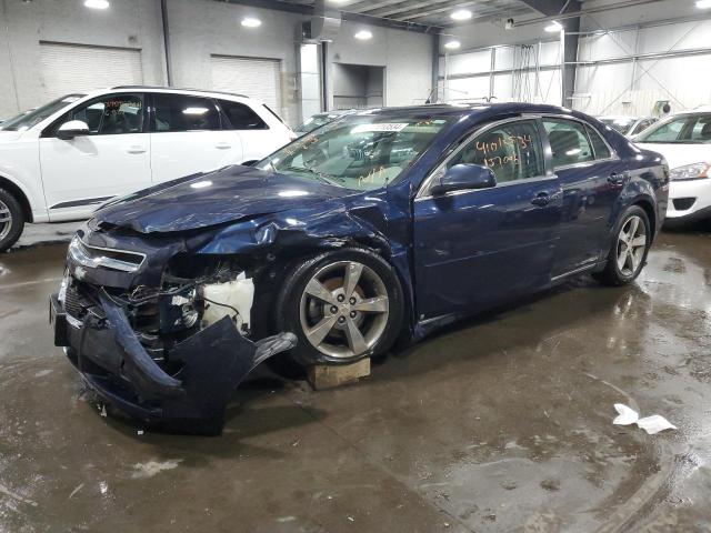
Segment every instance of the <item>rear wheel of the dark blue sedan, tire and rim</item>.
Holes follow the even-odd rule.
[[[633,235],[630,237],[633,225],[635,229]],[[643,244],[642,237],[644,238]],[[634,244],[634,242],[637,244]],[[608,263],[602,272],[595,274],[595,278],[601,283],[611,286],[622,286],[632,283],[647,264],[647,255],[649,254],[651,243],[652,229],[649,217],[642,208],[632,205],[620,217],[614,228],[614,237],[608,254]],[[632,253],[629,251],[630,244],[632,244]]]

